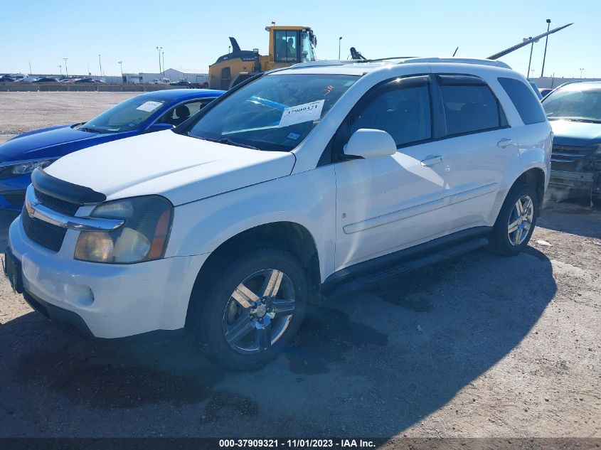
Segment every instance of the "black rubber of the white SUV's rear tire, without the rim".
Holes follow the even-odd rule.
[[[519,243],[519,245],[515,245],[511,242],[509,237],[509,220],[510,218],[513,218],[512,214],[516,214],[514,207],[518,202],[518,199],[525,197],[531,198],[533,218],[531,220],[530,227],[527,230],[526,237],[520,237],[521,243]],[[538,200],[538,195],[536,194],[536,188],[534,186],[528,183],[517,183],[512,186],[507,194],[507,197],[505,198],[505,202],[501,207],[501,211],[499,211],[499,215],[497,216],[494,227],[491,231],[489,246],[490,250],[498,255],[518,255],[518,253],[528,245],[528,241],[532,237],[532,232],[536,226],[536,218],[538,218],[539,208],[540,203]],[[514,242],[518,241],[514,240]]]

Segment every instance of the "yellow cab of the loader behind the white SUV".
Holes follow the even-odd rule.
[[[270,68],[286,67],[315,60],[317,38],[311,28],[268,26],[270,33]]]

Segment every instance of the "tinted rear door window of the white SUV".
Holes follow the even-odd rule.
[[[441,85],[447,134],[464,134],[504,126],[504,114],[486,85]]]

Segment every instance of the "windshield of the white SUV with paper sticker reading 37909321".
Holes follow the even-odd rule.
[[[357,79],[351,75],[265,75],[206,112],[188,135],[260,150],[289,151]]]

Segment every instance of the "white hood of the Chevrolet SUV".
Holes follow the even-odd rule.
[[[44,170],[107,200],[160,194],[181,205],[287,176],[294,161],[289,152],[244,149],[166,130],[76,151]]]

